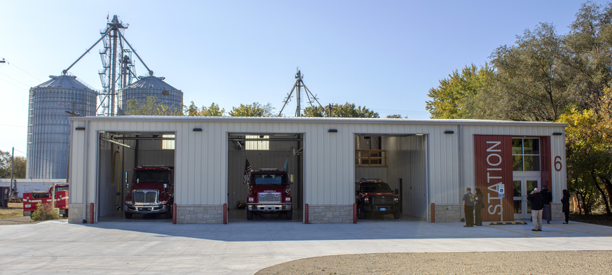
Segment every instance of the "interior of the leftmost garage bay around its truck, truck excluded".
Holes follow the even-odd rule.
[[[123,219],[134,167],[175,166],[175,132],[99,132],[98,217]],[[134,218],[143,218],[135,215]],[[161,216],[156,217],[161,218]],[[171,220],[170,220],[171,221]]]

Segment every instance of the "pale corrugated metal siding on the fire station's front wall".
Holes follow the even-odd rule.
[[[134,121],[128,121],[134,120]],[[399,176],[405,185],[404,190],[409,200],[414,202],[407,210],[411,215],[423,216],[428,203],[460,204],[465,183],[473,183],[473,134],[516,134],[516,135],[550,135],[552,131],[563,132],[563,127],[543,127],[540,125],[504,126],[500,125],[444,125],[440,122],[395,122],[400,120],[376,120],[380,123],[358,123],[354,120],[308,120],[308,119],[269,119],[246,120],[228,118],[76,118],[91,120],[88,132],[88,147],[83,142],[86,135],[76,132],[72,149],[73,165],[86,164],[87,169],[73,169],[73,179],[77,185],[97,181],[99,153],[97,148],[98,131],[116,132],[176,132],[175,144],[175,178],[176,202],[181,205],[221,205],[228,202],[228,181],[230,174],[241,175],[244,160],[236,158],[236,164],[228,162],[228,133],[304,133],[304,203],[313,205],[351,205],[354,202],[354,137],[355,134],[389,134],[402,136],[406,134],[424,134],[397,138],[395,148],[402,167],[393,167],[388,171],[392,184],[399,184]],[[286,122],[285,122],[286,121]],[[384,122],[384,123],[383,123]],[[77,121],[75,124],[83,122]],[[388,124],[385,124],[388,123]],[[456,123],[456,122],[455,122]],[[198,127],[202,132],[193,132]],[[336,129],[337,132],[328,132]],[[445,130],[454,131],[444,134]],[[73,132],[74,134],[75,132]],[[459,146],[461,140],[461,146]],[[559,155],[562,148],[560,138],[552,138],[552,157]],[[405,143],[405,145],[404,145]],[[89,148],[83,152],[83,148]],[[404,149],[406,157],[404,157]],[[461,159],[460,159],[461,156]],[[564,160],[564,155],[562,155]],[[286,157],[284,157],[286,158]],[[405,163],[404,163],[405,160]],[[81,161],[81,162],[79,162]],[[251,160],[250,160],[251,161]],[[284,159],[280,160],[284,163]],[[254,162],[251,161],[252,164]],[[553,162],[554,163],[554,162]],[[427,165],[428,164],[428,165]],[[281,164],[282,165],[282,164]],[[237,169],[231,172],[229,167]],[[461,170],[460,170],[461,167]],[[396,169],[407,170],[402,174]],[[391,171],[393,170],[393,171]],[[413,171],[414,170],[414,171]],[[423,176],[423,171],[426,171]],[[460,176],[461,175],[461,176]],[[553,180],[561,176],[553,173]],[[241,181],[241,180],[240,180]],[[395,181],[395,182],[394,182]],[[402,187],[403,188],[403,187]],[[410,189],[412,188],[412,189]],[[78,188],[75,188],[78,189]],[[238,188],[239,189],[239,188]],[[240,192],[236,189],[236,197]],[[556,188],[555,188],[556,189]],[[94,199],[88,188],[87,202]],[[409,191],[412,190],[412,191]],[[73,200],[74,198],[74,200]],[[75,194],[71,202],[81,202],[82,196]],[[235,202],[228,202],[229,205]],[[114,204],[113,204],[114,205]],[[405,212],[404,212],[405,213]]]

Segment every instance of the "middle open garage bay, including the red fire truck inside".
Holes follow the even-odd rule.
[[[302,209],[304,204],[303,146],[304,134],[300,133],[229,134],[228,223],[257,222],[258,220],[285,223],[302,221],[304,212]],[[247,162],[252,171],[266,171],[256,173],[257,184],[273,186],[273,188],[268,188],[273,190],[261,190],[258,193],[262,196],[261,203],[257,199],[260,208],[250,213],[247,213],[249,207],[247,204],[254,203],[254,201],[248,202],[247,199],[249,185],[245,177],[248,177],[247,174],[250,172]],[[278,185],[274,178],[278,179]],[[291,182],[288,189],[282,186],[285,181]],[[287,197],[290,197],[290,202],[287,201]],[[290,207],[291,213],[288,213],[287,207]]]

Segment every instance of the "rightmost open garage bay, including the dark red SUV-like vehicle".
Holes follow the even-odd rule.
[[[426,220],[427,170],[427,135],[355,134],[358,218]]]

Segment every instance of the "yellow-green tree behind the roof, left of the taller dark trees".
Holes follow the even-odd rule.
[[[465,66],[461,72],[454,71],[449,78],[440,80],[440,85],[429,90],[426,109],[431,118],[485,118],[477,99],[486,97],[487,81],[493,76],[489,64],[478,69],[474,64]],[[484,94],[484,95],[482,95]],[[486,100],[484,100],[486,101]]]

